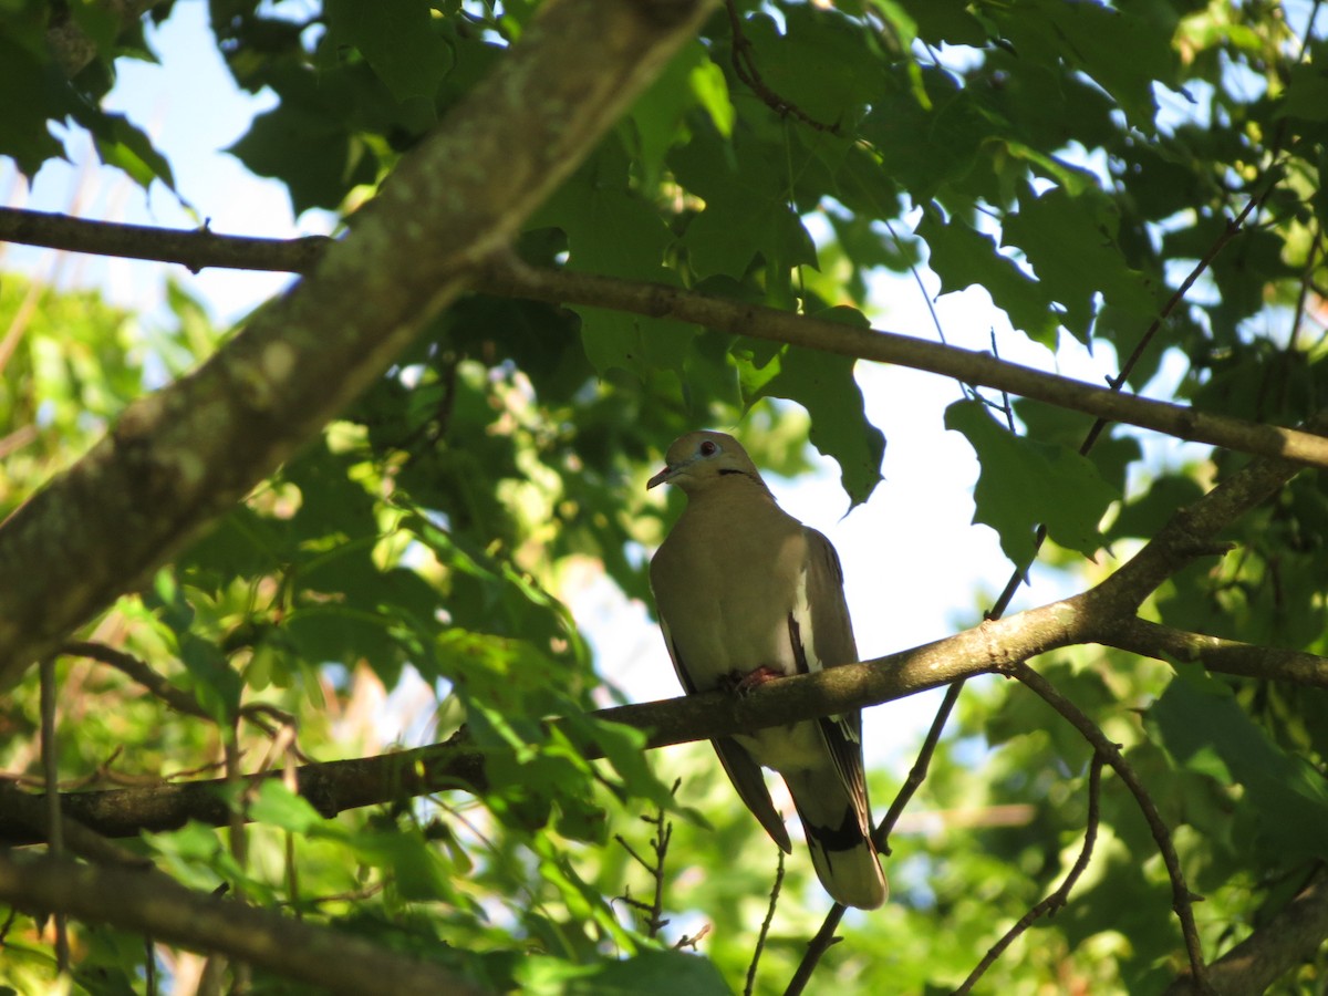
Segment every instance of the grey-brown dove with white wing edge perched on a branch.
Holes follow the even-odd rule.
[[[647,483],[677,485],[687,510],[651,560],[664,643],[688,695],[749,688],[858,660],[830,540],[776,505],[732,436],[688,433]],[[714,744],[748,809],[785,851],[761,765],[784,776],[826,891],[872,910],[888,886],[871,843],[862,716],[807,720]]]

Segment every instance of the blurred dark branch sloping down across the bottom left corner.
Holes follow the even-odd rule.
[[[438,965],[360,938],[202,895],[145,869],[98,867],[0,850],[0,900],[110,923],[194,951],[222,952],[327,992],[457,993],[479,989]]]

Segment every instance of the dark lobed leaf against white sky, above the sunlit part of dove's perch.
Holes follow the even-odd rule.
[[[1033,534],[1040,525],[1069,550],[1085,556],[1098,550],[1098,523],[1120,493],[1092,461],[1066,446],[1016,436],[979,401],[947,408],[946,428],[961,432],[981,463],[973,522],[996,530],[1001,550],[1020,570],[1033,560]]]

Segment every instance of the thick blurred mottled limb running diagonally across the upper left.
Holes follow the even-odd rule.
[[[554,0],[309,275],[0,526],[0,687],[378,377],[689,37],[708,0]],[[595,39],[595,58],[567,52]],[[44,564],[40,583],[32,566]]]

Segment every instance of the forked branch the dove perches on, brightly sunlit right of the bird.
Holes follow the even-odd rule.
[[[1311,425],[1328,420],[1317,414]],[[1011,668],[1046,651],[1076,643],[1130,641],[1129,649],[1174,657],[1179,644],[1194,647],[1212,671],[1250,675],[1254,649],[1232,653],[1230,641],[1185,635],[1135,622],[1134,612],[1170,574],[1212,551],[1212,539],[1254,505],[1275,493],[1297,467],[1282,459],[1255,459],[1212,491],[1178,511],[1133,559],[1096,588],[1069,599],[993,619],[946,640],[817,675],[770,681],[748,696],[722,692],[604,709],[595,716],[652,730],[649,745],[749,732],[795,720],[829,716],[886,703],[983,672]],[[4,530],[0,530],[3,535]],[[1159,645],[1145,639],[1154,632]],[[1121,636],[1123,635],[1123,636]],[[1270,652],[1256,671],[1263,679],[1328,687],[1328,659]],[[335,761],[299,769],[300,791],[324,815],[446,788],[482,790],[483,757],[461,744],[444,744],[377,758]],[[186,819],[224,825],[228,813],[208,782],[151,789],[76,793],[64,811],[106,837],[165,830]],[[0,811],[0,841],[32,842],[31,827]]]

